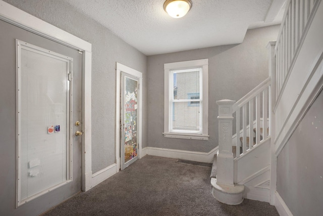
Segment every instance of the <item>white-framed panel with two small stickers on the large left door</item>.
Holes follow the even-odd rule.
[[[18,201],[71,181],[71,58],[18,47]]]

